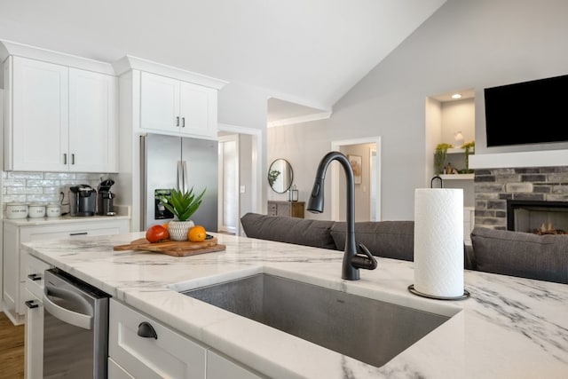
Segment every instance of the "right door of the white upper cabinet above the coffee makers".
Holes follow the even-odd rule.
[[[111,75],[69,68],[69,170],[118,170],[116,83]]]

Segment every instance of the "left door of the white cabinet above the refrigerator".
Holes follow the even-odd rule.
[[[179,82],[143,72],[140,92],[140,127],[179,134]]]

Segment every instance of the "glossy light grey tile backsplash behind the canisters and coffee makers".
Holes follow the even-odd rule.
[[[68,211],[68,188],[89,185],[97,188],[100,178],[112,178],[114,174],[80,172],[32,172],[2,171],[2,208],[7,202],[58,202],[62,211]],[[63,199],[61,194],[63,193]]]

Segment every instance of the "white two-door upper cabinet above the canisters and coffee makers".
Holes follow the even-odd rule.
[[[6,62],[4,170],[118,170],[115,76],[18,56]]]

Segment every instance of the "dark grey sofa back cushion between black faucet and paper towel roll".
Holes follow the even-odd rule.
[[[345,249],[347,225],[336,222],[331,236],[336,249]],[[367,221],[355,223],[355,242],[362,243],[376,257],[412,261],[414,259],[414,221]]]

